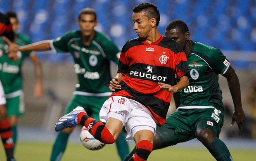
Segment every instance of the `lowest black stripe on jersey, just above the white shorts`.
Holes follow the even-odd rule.
[[[138,92],[137,90],[130,88],[123,81],[120,82],[120,85],[122,86],[121,90],[126,90],[132,96],[134,96],[134,97],[127,97],[127,96],[123,96],[123,97],[127,97],[129,99],[133,99],[137,102],[140,102],[145,107],[150,107],[150,109],[152,109],[152,111],[154,111],[155,114],[161,116],[162,118],[166,118],[166,114],[169,109],[170,102],[164,102],[162,99],[159,99],[151,94],[145,94],[142,92]]]

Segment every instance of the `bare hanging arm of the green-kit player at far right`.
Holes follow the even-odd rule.
[[[243,125],[243,121],[245,119],[245,114],[242,108],[241,90],[237,74],[230,65],[226,73],[223,74],[223,76],[227,78],[228,88],[230,90],[230,94],[232,96],[233,104],[235,107],[235,111],[232,114],[231,126],[233,126],[236,121],[238,128],[241,129],[241,126]]]

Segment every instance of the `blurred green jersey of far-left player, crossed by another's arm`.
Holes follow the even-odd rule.
[[[31,44],[31,40],[24,34],[17,34],[15,39],[17,45]],[[17,62],[7,57],[5,50],[7,44],[0,38],[0,79],[5,91],[5,95],[22,89],[21,65],[25,57],[32,52],[17,52],[20,58]]]

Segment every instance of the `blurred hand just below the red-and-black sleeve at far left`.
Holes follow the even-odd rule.
[[[13,61],[18,61],[19,57],[17,55],[17,51],[19,49],[19,46],[12,43],[8,38],[6,38],[5,36],[3,36],[3,40],[5,41],[5,43],[7,43],[7,45],[9,46],[9,48],[7,50],[5,50],[5,52],[8,53],[7,57],[9,59],[12,59]]]

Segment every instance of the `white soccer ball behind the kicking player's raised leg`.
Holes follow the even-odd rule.
[[[84,147],[90,150],[100,150],[106,144],[100,142],[99,140],[95,139],[87,130],[85,126],[81,129],[80,132],[80,141]]]

